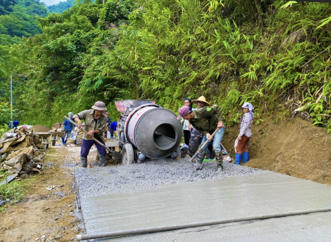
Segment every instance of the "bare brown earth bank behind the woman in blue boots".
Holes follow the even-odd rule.
[[[239,127],[230,127],[222,141],[233,158]],[[253,124],[252,133],[250,162],[245,166],[331,185],[331,134],[325,128],[294,118]]]

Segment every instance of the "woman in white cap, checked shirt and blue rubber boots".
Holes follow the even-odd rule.
[[[244,102],[242,105],[244,116],[241,120],[240,133],[238,135],[238,144],[236,148],[235,164],[239,165],[241,157],[243,157],[243,163],[249,162],[249,150],[248,145],[252,137],[251,127],[254,119],[253,105],[250,102]]]

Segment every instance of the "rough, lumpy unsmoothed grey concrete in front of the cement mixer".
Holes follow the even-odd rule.
[[[90,197],[102,194],[155,189],[164,185],[199,180],[224,179],[233,176],[257,175],[270,171],[258,170],[234,164],[224,164],[224,172],[217,173],[216,163],[204,163],[202,170],[184,158],[149,160],[142,164],[117,167],[75,169],[79,194]]]

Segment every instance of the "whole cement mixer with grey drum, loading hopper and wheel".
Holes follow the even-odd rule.
[[[182,125],[174,112],[154,100],[115,101],[121,112],[118,137],[124,164],[141,163],[146,158],[180,157]]]

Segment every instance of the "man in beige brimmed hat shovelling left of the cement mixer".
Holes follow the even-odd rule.
[[[82,167],[87,167],[88,154],[92,145],[95,145],[100,153],[99,166],[104,167],[105,165],[106,148],[95,142],[92,137],[104,144],[103,132],[106,127],[107,116],[105,116],[103,112],[106,110],[104,102],[97,101],[94,103],[91,110],[85,110],[73,116],[73,119],[77,121],[77,127],[80,129],[82,128],[81,119],[85,120],[84,129],[87,131],[87,134],[83,134],[80,149],[80,162]]]

